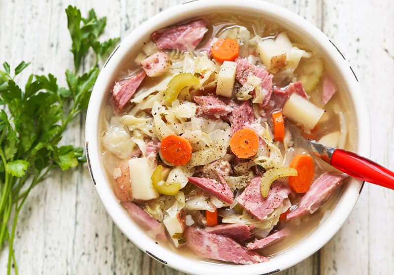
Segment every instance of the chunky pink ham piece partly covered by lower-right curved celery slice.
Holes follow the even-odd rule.
[[[283,203],[291,190],[284,183],[274,181],[268,192],[268,196],[263,198],[260,187],[261,180],[262,178],[260,176],[253,178],[248,187],[237,198],[237,202],[252,216],[263,221]]]

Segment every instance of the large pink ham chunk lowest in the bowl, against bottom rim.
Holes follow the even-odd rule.
[[[268,261],[268,258],[246,250],[229,237],[207,233],[199,228],[188,227],[185,231],[185,238],[190,249],[209,259],[242,265]]]

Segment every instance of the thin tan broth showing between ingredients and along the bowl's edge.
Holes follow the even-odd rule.
[[[207,17],[204,18],[207,20],[209,23],[207,25],[208,32],[204,35],[203,40],[200,42],[199,45],[205,45],[206,43],[209,42],[209,39],[211,37],[218,36],[220,34],[223,34],[224,31],[236,28],[236,27],[246,27],[250,32],[251,32],[251,37],[255,35],[260,35],[262,36],[263,39],[266,38],[272,38],[275,37],[279,32],[281,31],[286,31],[288,36],[290,37],[291,41],[294,44],[300,45],[299,47],[301,49],[306,49],[308,51],[313,52],[314,54],[318,54],[313,51],[313,45],[308,45],[303,41],[300,37],[298,37],[296,34],[292,34],[291,32],[288,32],[287,30],[284,30],[281,28],[279,25],[275,23],[271,23],[268,21],[265,21],[261,18],[254,18],[251,16],[248,16],[248,18],[241,18],[240,16],[234,16],[230,15],[227,13],[216,13],[216,14],[211,14]],[[147,41],[146,41],[147,42]],[[198,52],[199,48],[197,47],[196,51]],[[132,55],[131,60],[134,60],[137,56],[138,52]],[[324,57],[323,57],[324,60]],[[133,71],[137,69],[139,66],[136,64],[130,65],[130,68],[128,68],[128,71],[119,71],[118,75],[118,80],[119,79],[124,79],[126,75],[130,75],[130,71]],[[329,73],[331,76],[335,76],[335,73],[330,70],[328,67],[328,63],[326,60],[324,60],[324,72],[323,75],[321,76],[321,79],[325,76],[326,73]],[[165,76],[163,77],[155,77],[155,78],[146,78],[141,86],[139,87],[138,91],[143,91],[149,89],[149,87],[155,86],[158,83],[160,83]],[[275,79],[275,78],[274,78]],[[340,131],[341,130],[341,122],[340,122],[340,117],[337,115],[338,112],[343,112],[343,118],[345,120],[346,126],[348,127],[348,134],[345,139],[344,143],[344,148],[346,149],[354,149],[356,144],[355,144],[355,138],[354,138],[354,123],[350,123],[353,121],[351,110],[348,110],[346,107],[348,106],[347,104],[347,99],[345,97],[344,91],[342,90],[342,87],[338,87],[338,91],[336,94],[331,98],[331,100],[326,104],[322,104],[322,91],[323,91],[323,84],[322,80],[320,80],[319,84],[314,88],[314,90],[310,93],[310,102],[314,103],[318,107],[324,108],[326,111],[325,116],[326,121],[319,122],[319,129],[317,129],[313,133],[313,138],[316,140],[319,140],[323,136],[325,136],[328,133],[332,133],[335,131]],[[139,92],[137,91],[136,94]],[[127,114],[129,111],[123,112],[122,114]],[[119,116],[119,112],[114,111],[113,105],[110,103],[110,96],[108,96],[107,99],[107,104],[105,107],[105,110],[102,112],[102,117],[100,118],[101,120],[101,130],[100,130],[100,135],[101,137],[104,135],[108,125],[110,124],[111,118],[114,116]],[[270,117],[270,116],[269,116]],[[307,148],[305,138],[302,137],[301,130],[298,129],[298,127],[291,123],[291,122],[286,122],[288,123],[288,127],[290,131],[292,132],[293,135],[293,141],[294,145],[293,147],[295,148],[297,153],[310,153],[309,149]],[[343,123],[343,122],[342,122]],[[272,124],[268,120],[268,124]],[[285,153],[285,149],[283,147],[283,144],[279,145],[279,148],[281,149],[282,153]],[[106,168],[106,174],[107,174],[107,180],[109,184],[113,181],[113,172],[114,169],[117,167],[118,163],[121,161],[119,157],[117,157],[115,154],[111,153],[109,150],[106,150],[104,146],[101,147],[102,150],[102,162],[104,164],[104,167]],[[317,160],[315,158],[316,166],[315,166],[315,174],[319,175],[324,170],[333,170],[330,168],[327,164],[323,163],[320,160]],[[302,241],[305,239],[314,229],[316,229],[319,226],[319,223],[322,221],[325,213],[329,213],[330,209],[333,208],[340,196],[341,190],[337,190],[335,194],[329,199],[329,201],[322,207],[320,207],[315,213],[309,214],[309,215],[304,215],[301,218],[296,219],[296,221],[291,221],[291,222],[279,222],[278,225],[274,227],[275,229],[283,229],[283,228],[288,228],[291,231],[291,235],[282,241],[279,241],[277,243],[274,243],[266,248],[263,248],[262,250],[258,250],[263,256],[266,257],[273,257],[277,254],[283,253],[287,249],[291,248],[292,246],[296,245],[298,242]],[[297,223],[298,222],[298,223]],[[198,255],[196,255],[194,252],[192,252],[187,246],[181,246],[180,248],[175,248],[173,243],[168,240],[166,242],[161,242],[161,244],[165,245],[172,251],[176,251],[177,253],[181,253],[182,255],[187,255],[189,257],[197,258],[201,261],[208,261],[208,262],[213,262],[213,263],[220,263],[220,264],[228,264],[222,261],[217,261],[217,260],[210,260],[206,258],[202,258]]]

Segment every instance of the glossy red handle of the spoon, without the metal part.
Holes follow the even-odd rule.
[[[350,176],[394,189],[394,172],[355,153],[336,149],[331,157],[331,165]]]

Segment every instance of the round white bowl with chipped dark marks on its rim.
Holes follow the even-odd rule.
[[[120,206],[107,181],[100,158],[99,125],[107,94],[111,90],[120,68],[132,62],[131,56],[140,50],[143,41],[160,28],[176,24],[188,18],[205,14],[228,11],[261,16],[277,22],[284,28],[300,34],[314,50],[325,57],[328,67],[334,72],[337,83],[346,93],[348,109],[354,111],[355,139],[357,153],[370,155],[370,125],[366,105],[361,95],[356,76],[339,50],[328,37],[300,16],[279,6],[257,0],[197,0],[174,6],[155,15],[129,34],[108,58],[101,70],[89,102],[86,117],[86,153],[91,176],[99,197],[119,229],[141,250],[156,260],[174,269],[189,274],[257,275],[273,274],[296,265],[325,245],[339,230],[355,206],[362,182],[352,179],[346,184],[339,200],[328,218],[306,238],[290,249],[273,257],[269,262],[254,265],[221,265],[198,261],[175,253],[163,245],[156,244],[138,227]]]

